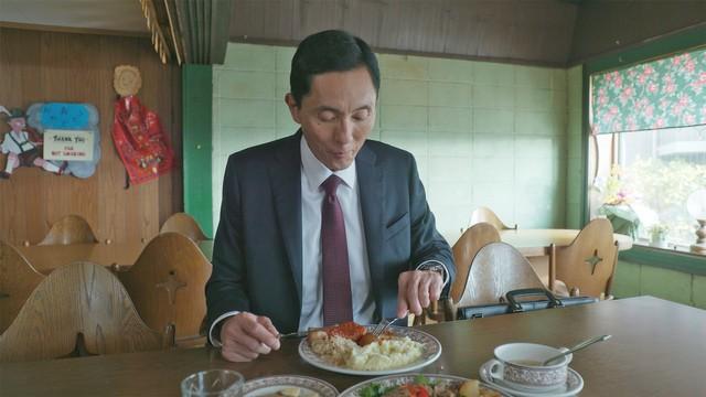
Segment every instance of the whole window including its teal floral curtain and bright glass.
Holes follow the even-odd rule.
[[[591,217],[635,244],[688,251],[686,202],[706,189],[706,50],[593,75],[590,89]]]

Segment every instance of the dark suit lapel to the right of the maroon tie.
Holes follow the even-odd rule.
[[[361,211],[363,213],[363,226],[365,243],[367,246],[367,260],[375,294],[377,314],[382,313],[383,297],[378,291],[385,288],[385,269],[381,261],[383,249],[383,170],[376,164],[375,153],[364,146],[355,158],[355,168],[361,193]]]

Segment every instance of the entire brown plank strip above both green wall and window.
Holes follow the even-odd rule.
[[[231,41],[345,29],[378,52],[566,67],[705,23],[706,1],[233,0]]]

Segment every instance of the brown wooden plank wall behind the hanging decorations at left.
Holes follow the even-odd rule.
[[[182,211],[181,159],[169,174],[124,189],[125,168],[110,136],[113,71],[120,64],[140,69],[138,96],[158,112],[180,158],[181,72],[160,63],[149,39],[0,28],[0,105],[26,109],[38,101],[90,103],[100,115],[101,139],[101,159],[88,179],[21,168],[0,180],[0,239],[36,244],[68,214],[86,218],[99,240],[149,239],[169,215]],[[0,124],[0,136],[8,129]]]

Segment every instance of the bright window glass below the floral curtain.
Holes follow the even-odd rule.
[[[706,189],[706,126],[595,138],[591,217],[608,216],[637,244],[688,250],[697,237],[686,201]]]

